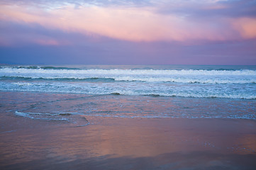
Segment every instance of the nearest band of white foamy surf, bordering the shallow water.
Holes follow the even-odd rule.
[[[194,98],[256,99],[256,84],[166,84],[147,82],[75,83],[75,82],[0,82],[0,91],[38,91],[53,93],[128,96],[168,96]]]

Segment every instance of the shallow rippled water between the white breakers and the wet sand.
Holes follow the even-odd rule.
[[[9,95],[17,95],[8,101]],[[43,97],[42,97],[43,96]],[[9,103],[10,102],[10,103]],[[1,92],[1,110],[13,115],[74,122],[86,115],[118,118],[229,118],[256,120],[256,101],[230,98],[179,98]],[[83,120],[77,120],[83,124]]]

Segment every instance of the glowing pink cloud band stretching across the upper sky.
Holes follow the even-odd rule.
[[[84,35],[103,35],[128,41],[187,42],[256,38],[255,19],[192,20],[177,14],[156,13],[154,7],[81,6],[75,9],[67,5],[53,10],[28,6],[1,6],[0,9],[0,20],[38,23],[48,29]],[[38,43],[58,45],[54,40],[43,40]]]

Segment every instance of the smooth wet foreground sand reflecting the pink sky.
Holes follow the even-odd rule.
[[[30,128],[20,125],[16,132],[1,134],[1,166],[6,169],[72,166],[102,169],[106,165],[107,169],[122,166],[252,169],[256,165],[252,161],[256,158],[256,124],[250,120],[234,123],[173,118],[88,116],[87,119],[92,124],[79,128],[52,123],[45,126],[40,120],[37,123],[29,120]]]

